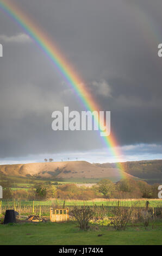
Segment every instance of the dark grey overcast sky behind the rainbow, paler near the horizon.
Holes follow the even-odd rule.
[[[13,0],[57,44],[101,110],[120,161],[162,159],[161,0]],[[49,59],[0,10],[0,163],[113,162],[96,131],[53,131],[52,112],[82,111]],[[119,160],[119,159],[118,159]]]

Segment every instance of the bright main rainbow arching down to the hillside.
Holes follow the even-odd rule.
[[[64,77],[64,80],[68,85],[76,92],[80,101],[84,107],[89,111],[99,111],[99,106],[92,98],[85,83],[80,79],[77,72],[73,70],[72,66],[66,62],[63,55],[60,53],[58,48],[55,46],[49,36],[42,32],[38,26],[32,21],[31,17],[28,17],[23,11],[10,0],[0,0],[0,8],[8,14],[11,19],[17,22],[19,26],[34,40],[34,42],[41,48],[46,56],[52,61],[55,68]],[[99,127],[103,126],[103,122],[98,120],[98,115],[95,116],[95,121],[99,124]],[[99,123],[100,122],[100,123]],[[111,154],[115,156],[116,160],[120,159],[121,152],[117,147],[115,136],[111,134],[107,137],[101,137],[105,145],[110,150]],[[116,167],[119,169],[120,178],[125,178],[122,163],[117,161]]]

